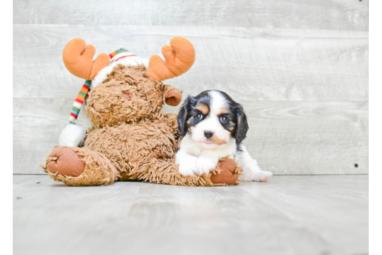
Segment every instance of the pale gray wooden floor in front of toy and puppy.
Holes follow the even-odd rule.
[[[67,187],[13,175],[13,253],[368,254],[368,182],[381,191],[381,175],[273,176],[214,188]],[[373,201],[371,213],[380,213]]]

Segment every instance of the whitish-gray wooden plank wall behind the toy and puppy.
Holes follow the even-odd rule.
[[[69,40],[149,58],[174,36],[192,41],[197,60],[168,84],[184,95],[220,89],[242,103],[245,144],[262,168],[367,173],[367,8],[365,0],[13,1],[13,173],[42,173],[67,124],[83,83],[62,63]],[[89,125],[84,110],[78,124]]]

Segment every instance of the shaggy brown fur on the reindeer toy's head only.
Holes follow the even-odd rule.
[[[144,65],[118,64],[102,84],[89,92],[86,115],[97,127],[138,122],[158,113],[170,91],[181,94],[175,87],[148,79]],[[124,96],[127,92],[130,100]]]

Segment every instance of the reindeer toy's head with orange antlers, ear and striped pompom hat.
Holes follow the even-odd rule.
[[[174,37],[162,47],[165,61],[154,55],[146,69],[146,61],[123,48],[110,55],[100,54],[92,60],[95,48],[82,39],[71,40],[64,48],[66,68],[86,79],[73,105],[70,124],[76,124],[78,113],[88,94],[87,116],[94,126],[103,127],[118,122],[133,122],[159,112],[163,104],[177,106],[181,91],[161,81],[186,72],[195,62],[195,49],[186,39]],[[77,127],[61,133],[60,145],[78,146],[84,134],[73,135]],[[77,132],[78,133],[78,132]]]

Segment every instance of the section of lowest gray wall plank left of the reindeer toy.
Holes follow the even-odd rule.
[[[76,95],[75,95],[76,96]],[[13,173],[44,174],[40,164],[58,145],[74,99],[13,98]],[[82,107],[78,125],[91,126]]]

